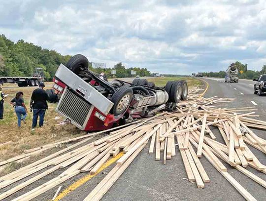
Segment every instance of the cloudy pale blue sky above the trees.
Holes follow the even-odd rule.
[[[0,34],[163,74],[266,64],[266,0],[1,0]]]

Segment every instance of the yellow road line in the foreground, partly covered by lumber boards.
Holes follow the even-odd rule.
[[[84,176],[81,179],[77,180],[75,183],[73,183],[70,186],[68,186],[62,193],[60,193],[56,197],[55,201],[60,201],[61,199],[66,197],[67,194],[69,194],[70,192],[74,191],[75,189],[77,189],[78,187],[80,187],[81,185],[83,185],[84,183],[89,181],[91,178],[95,177],[97,174],[99,174],[106,167],[108,167],[109,165],[111,165],[112,163],[114,163],[115,161],[120,159],[123,155],[124,155],[124,153],[120,152],[115,158],[112,158],[112,159],[108,160],[107,162],[105,162],[95,174],[87,174],[86,176]]]

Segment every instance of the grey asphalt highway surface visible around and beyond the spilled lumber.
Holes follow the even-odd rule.
[[[253,81],[240,80],[238,83],[224,83],[223,80],[217,79],[203,79],[209,83],[205,97],[219,96],[219,97],[236,97],[233,103],[223,104],[223,107],[247,107],[254,106],[259,108],[258,114],[261,119],[266,121],[265,106],[266,97],[259,97],[253,94]],[[254,101],[252,103],[251,101]],[[257,135],[266,139],[266,132],[254,130]],[[222,141],[218,130],[214,129],[214,134],[219,141]],[[103,201],[224,201],[234,200],[243,201],[244,198],[233,188],[233,186],[202,156],[202,162],[211,182],[206,183],[204,189],[198,189],[196,184],[187,181],[185,168],[176,147],[176,156],[172,160],[167,161],[164,165],[162,161],[155,161],[154,155],[148,154],[149,146],[136,157],[132,164],[121,175],[117,182],[102,198]],[[266,164],[266,156],[264,153],[250,147],[257,158]],[[161,153],[163,154],[163,153]],[[161,159],[163,155],[161,156]],[[251,193],[258,201],[264,201],[266,198],[266,190],[253,180],[249,179],[236,169],[225,164],[228,167],[228,172],[235,178],[249,193]],[[85,184],[78,187],[76,190],[69,192],[63,201],[82,201],[91,190],[96,187],[100,180],[105,176],[105,173],[110,171],[113,165],[110,165],[104,170],[102,174],[90,179]],[[247,168],[262,179],[266,180],[266,174],[263,174],[251,167]],[[63,170],[60,170],[62,172]],[[58,175],[58,172],[56,173]],[[82,173],[73,177],[62,185],[62,190],[73,184],[78,179],[86,176]],[[35,185],[40,185],[51,178],[51,174],[37,182]],[[14,184],[16,185],[16,184]],[[19,191],[14,196],[9,197],[11,200],[16,195],[21,195],[31,190],[33,186],[27,187],[25,190]],[[53,197],[58,186],[47,191],[41,196],[37,197],[36,201],[49,200]],[[1,193],[1,191],[0,191]]]

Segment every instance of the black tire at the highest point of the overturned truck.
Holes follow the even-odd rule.
[[[75,74],[78,74],[81,70],[87,70],[88,66],[89,61],[82,54],[72,56],[66,63],[66,67]]]

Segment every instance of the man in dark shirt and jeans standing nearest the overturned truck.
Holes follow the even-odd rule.
[[[37,125],[38,116],[39,119],[39,126],[43,125],[45,111],[48,109],[47,100],[49,99],[47,93],[43,89],[45,87],[43,82],[40,82],[39,88],[35,89],[32,94],[31,98],[31,108],[33,108],[33,124],[32,128]]]

